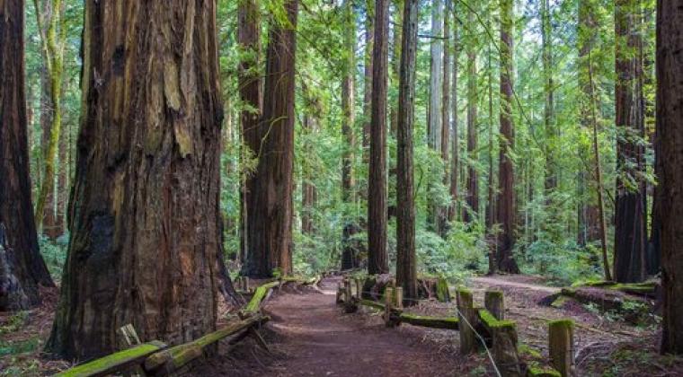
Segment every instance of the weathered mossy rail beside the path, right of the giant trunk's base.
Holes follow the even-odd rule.
[[[157,352],[154,355],[147,357],[144,368],[146,373],[154,375],[171,374],[183,366],[191,363],[191,361],[202,357],[208,346],[211,346],[217,341],[241,333],[244,330],[250,329],[253,326],[261,325],[262,323],[271,320],[268,316],[257,315],[246,320],[240,320],[226,325],[222,329],[218,329],[209,333],[190,343],[185,343],[179,346],[173,346],[164,351]]]

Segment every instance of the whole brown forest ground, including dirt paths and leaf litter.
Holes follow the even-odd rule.
[[[489,376],[484,353],[459,355],[458,332],[402,325],[387,329],[367,308],[344,314],[335,304],[339,277],[320,289],[285,285],[266,302],[271,322],[261,330],[269,345],[252,338],[221,345],[217,355],[194,365],[191,376]],[[475,304],[486,289],[505,293],[506,318],[518,323],[519,342],[547,357],[547,321],[572,318],[579,376],[683,376],[683,359],[657,354],[660,324],[635,326],[616,314],[600,313],[576,302],[549,306],[558,288],[536,276],[481,276],[467,285]],[[43,293],[43,305],[22,314],[0,313],[0,376],[47,375],[68,364],[40,353],[49,335],[56,292]],[[422,300],[408,311],[455,314],[455,303]],[[229,352],[228,352],[229,351]]]

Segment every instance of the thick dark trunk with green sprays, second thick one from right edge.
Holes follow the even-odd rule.
[[[644,148],[642,9],[636,0],[615,4],[616,213],[614,275],[617,282],[645,277],[646,193],[641,178]]]

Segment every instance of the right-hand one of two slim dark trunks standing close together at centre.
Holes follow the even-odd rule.
[[[412,178],[412,128],[415,119],[415,59],[418,31],[418,0],[405,0],[401,75],[398,88],[396,130],[396,280],[404,298],[416,300],[415,203]],[[412,301],[410,301],[412,303]]]

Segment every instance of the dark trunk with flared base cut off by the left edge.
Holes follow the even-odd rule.
[[[33,206],[24,92],[22,0],[0,2],[0,311],[40,303],[54,285],[40,256]]]

